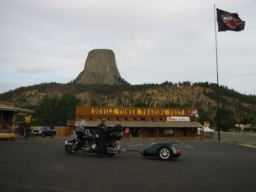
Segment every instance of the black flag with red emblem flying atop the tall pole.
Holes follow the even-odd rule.
[[[242,31],[245,21],[241,20],[237,13],[228,13],[216,8],[218,31]]]

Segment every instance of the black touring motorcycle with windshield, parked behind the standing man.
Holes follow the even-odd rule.
[[[115,127],[108,130],[106,148],[104,155],[107,157],[114,156],[120,153],[121,147],[118,140],[122,139],[124,132],[122,125],[115,125]],[[86,129],[84,120],[74,129],[74,138],[65,141],[65,150],[68,154],[74,154],[78,150],[88,153],[97,153],[97,143],[99,137],[93,136],[89,129]]]

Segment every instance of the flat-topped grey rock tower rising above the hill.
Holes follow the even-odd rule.
[[[94,49],[88,53],[84,70],[76,79],[82,84],[121,84],[115,54],[110,49]]]

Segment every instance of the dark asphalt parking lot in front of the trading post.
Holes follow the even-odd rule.
[[[255,191],[256,148],[184,140],[182,155],[170,161],[138,152],[97,158],[67,154],[65,139],[0,141],[1,191]],[[152,142],[124,139],[121,145],[142,150]]]

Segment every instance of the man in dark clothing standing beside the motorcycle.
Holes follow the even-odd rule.
[[[108,127],[105,125],[104,118],[101,119],[101,124],[97,127],[97,134],[99,135],[97,156],[102,157],[102,154],[105,152],[108,134]]]

